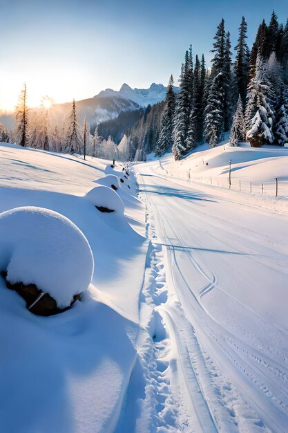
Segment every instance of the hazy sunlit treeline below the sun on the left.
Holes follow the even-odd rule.
[[[51,127],[49,109],[44,105],[30,109],[27,104],[27,86],[24,84],[15,109],[15,131],[9,131],[0,123],[0,141],[15,142],[23,147],[68,154],[80,154],[104,159],[126,160],[111,136],[100,136],[98,127],[90,131],[86,118],[79,125],[75,101],[61,129]],[[138,116],[139,117],[139,116]]]

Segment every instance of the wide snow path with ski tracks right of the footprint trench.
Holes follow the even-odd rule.
[[[135,172],[168,290],[154,310],[166,331],[176,418],[160,431],[285,432],[285,216],[179,185],[157,176],[157,166]]]

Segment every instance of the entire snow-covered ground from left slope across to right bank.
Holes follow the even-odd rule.
[[[285,181],[282,151],[219,147],[135,165],[140,201],[119,165],[1,144],[0,212],[28,207],[13,225],[14,212],[0,216],[1,266],[38,278],[49,265],[55,299],[61,286],[84,296],[39,317],[0,277],[0,431],[286,432],[287,197],[260,202],[203,181],[227,178],[224,158],[238,181]],[[67,235],[38,210],[25,222],[31,206]],[[71,272],[59,266],[65,248]],[[29,253],[23,264],[14,250]]]

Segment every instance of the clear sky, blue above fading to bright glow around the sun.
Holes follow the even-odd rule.
[[[209,64],[222,17],[235,46],[244,15],[251,46],[273,9],[285,24],[287,0],[0,0],[0,109],[15,107],[24,82],[31,107],[166,85],[171,73],[177,84],[190,44]]]

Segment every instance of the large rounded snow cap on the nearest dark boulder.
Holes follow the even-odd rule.
[[[66,216],[35,207],[0,214],[0,270],[11,284],[35,284],[65,308],[88,288],[93,269],[86,237]]]

